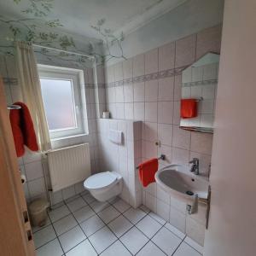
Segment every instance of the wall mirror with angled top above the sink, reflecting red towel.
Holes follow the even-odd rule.
[[[207,53],[182,72],[180,127],[213,132],[219,55]]]

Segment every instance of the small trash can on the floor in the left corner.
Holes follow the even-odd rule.
[[[48,207],[49,202],[43,198],[32,201],[28,208],[33,226],[42,227],[46,224]]]

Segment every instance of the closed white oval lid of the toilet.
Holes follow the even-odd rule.
[[[108,187],[116,179],[116,175],[111,172],[101,172],[88,177],[84,181],[84,187],[87,189],[102,189]]]

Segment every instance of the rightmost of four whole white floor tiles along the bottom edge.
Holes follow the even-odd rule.
[[[152,241],[168,255],[172,255],[182,241],[170,230],[163,227],[153,238]]]

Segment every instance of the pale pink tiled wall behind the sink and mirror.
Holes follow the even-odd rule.
[[[112,118],[143,121],[142,160],[166,154],[162,166],[188,165],[197,157],[201,173],[207,176],[212,135],[179,128],[181,71],[209,51],[219,53],[220,39],[221,26],[214,26],[107,67],[107,108]],[[159,141],[160,147],[155,145]],[[185,203],[171,198],[155,183],[143,190],[143,204],[203,243],[203,207],[189,216]]]

